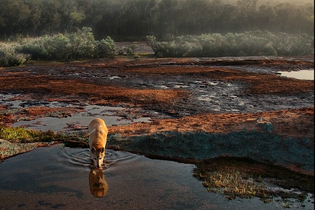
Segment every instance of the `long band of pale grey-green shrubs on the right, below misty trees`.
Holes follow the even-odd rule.
[[[223,57],[259,55],[314,55],[314,36],[246,31],[241,34],[178,36],[157,41],[147,36],[158,57]]]

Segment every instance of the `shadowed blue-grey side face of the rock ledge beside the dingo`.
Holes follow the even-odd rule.
[[[314,143],[283,138],[270,132],[157,132],[134,137],[110,136],[108,146],[144,155],[207,160],[220,156],[251,158],[259,162],[314,174]]]

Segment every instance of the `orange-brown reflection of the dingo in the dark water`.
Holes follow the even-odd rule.
[[[91,169],[89,175],[90,193],[94,197],[104,197],[109,189],[102,170]]]

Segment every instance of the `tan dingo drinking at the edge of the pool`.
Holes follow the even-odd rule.
[[[90,155],[97,169],[101,169],[105,157],[105,146],[108,130],[104,120],[94,119],[89,125]]]

